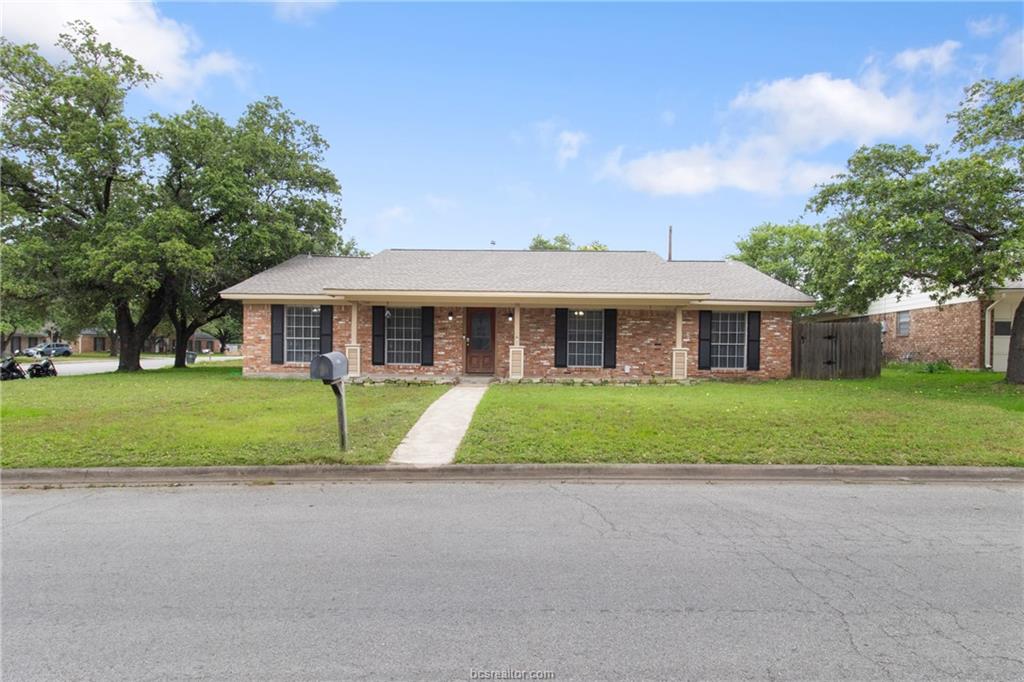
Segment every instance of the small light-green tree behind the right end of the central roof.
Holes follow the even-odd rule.
[[[814,296],[814,259],[820,243],[821,230],[814,225],[765,222],[736,242],[738,253],[731,257]]]

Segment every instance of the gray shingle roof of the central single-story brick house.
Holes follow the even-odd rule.
[[[297,256],[222,293],[346,291],[690,294],[736,301],[813,303],[743,263],[667,262],[650,251],[382,251],[372,258]]]

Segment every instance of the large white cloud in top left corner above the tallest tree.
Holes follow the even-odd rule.
[[[206,51],[191,27],[164,16],[153,2],[4,2],[4,36],[36,43],[50,58],[66,56],[53,45],[68,23],[85,19],[100,40],[135,57],[161,79],[155,92],[187,97],[209,79],[237,82],[246,68],[227,51]]]

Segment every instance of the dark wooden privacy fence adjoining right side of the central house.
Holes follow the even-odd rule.
[[[794,324],[793,376],[801,379],[862,379],[877,377],[881,373],[881,324]]]

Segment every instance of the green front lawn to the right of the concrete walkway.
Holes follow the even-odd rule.
[[[1000,379],[494,386],[457,461],[1024,466],[1024,388]]]

